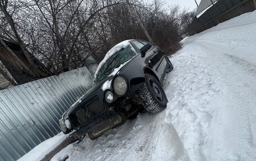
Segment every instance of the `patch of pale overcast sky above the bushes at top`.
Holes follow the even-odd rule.
[[[194,10],[197,6],[195,3],[195,0],[162,0],[163,2],[166,2],[166,4],[179,4],[181,9],[183,8],[189,8],[189,11]],[[196,0],[198,4],[201,0]]]

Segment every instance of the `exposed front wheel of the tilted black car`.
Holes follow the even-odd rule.
[[[144,108],[150,113],[163,111],[168,100],[161,84],[154,76],[148,73],[145,74],[145,79],[146,82],[139,91]]]

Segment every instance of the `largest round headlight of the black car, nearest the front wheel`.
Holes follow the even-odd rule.
[[[121,76],[117,76],[113,82],[113,89],[117,95],[125,95],[127,90],[127,83]]]

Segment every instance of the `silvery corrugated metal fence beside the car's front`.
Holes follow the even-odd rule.
[[[0,91],[0,160],[17,160],[57,135],[63,112],[88,91],[86,67]]]

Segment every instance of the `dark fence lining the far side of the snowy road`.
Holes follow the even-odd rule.
[[[252,12],[255,10],[255,5],[255,0],[219,0],[202,16],[194,18],[189,25],[188,33],[192,36],[243,13]]]

